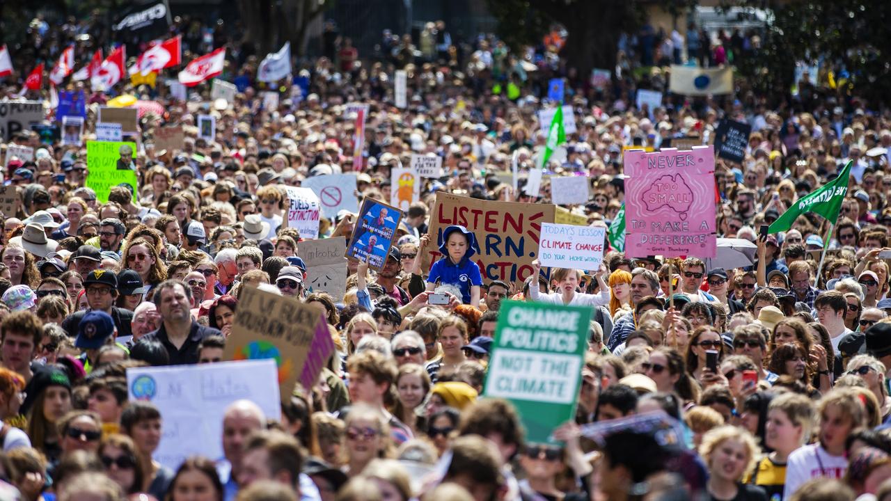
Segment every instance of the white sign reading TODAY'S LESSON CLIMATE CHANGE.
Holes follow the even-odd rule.
[[[542,223],[538,259],[543,267],[597,270],[606,232],[604,227]]]

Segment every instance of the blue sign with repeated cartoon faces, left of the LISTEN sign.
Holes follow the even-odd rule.
[[[396,239],[402,211],[382,201],[366,198],[347,245],[347,258],[368,259],[368,266],[380,271]]]

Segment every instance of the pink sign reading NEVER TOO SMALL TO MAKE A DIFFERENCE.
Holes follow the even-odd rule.
[[[625,152],[625,254],[715,257],[715,151]]]

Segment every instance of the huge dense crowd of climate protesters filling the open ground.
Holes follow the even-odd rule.
[[[44,102],[0,147],[0,499],[891,499],[878,104],[806,73],[794,94],[672,92],[672,62],[756,57],[752,34],[695,27],[623,37],[595,81],[559,33],[516,53],[437,22],[371,54],[326,36],[293,62],[177,17],[176,64],[137,60],[148,45],[94,64],[92,22],[37,18],[0,52],[0,108]],[[134,64],[149,71],[122,75]],[[728,120],[747,126],[737,160],[713,154]],[[712,248],[641,254],[626,155],[700,145],[705,192],[682,182],[650,209],[705,193],[706,236],[652,227]],[[344,177],[334,202],[317,189]],[[545,223],[599,229],[576,241],[599,235],[596,264],[549,264]],[[189,385],[266,358],[233,340],[273,340],[288,308],[320,316],[312,346],[331,350],[304,349],[299,364],[323,360],[273,414],[242,395],[171,424],[175,407],[140,397],[161,389],[135,371]],[[510,379],[521,351],[540,365]],[[275,358],[278,390],[293,360]],[[495,396],[511,393],[531,397]],[[218,456],[171,438],[205,429]]]

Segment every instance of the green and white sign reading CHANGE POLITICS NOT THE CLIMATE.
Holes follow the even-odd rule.
[[[576,413],[591,308],[503,301],[484,395],[517,407],[533,443]]]

